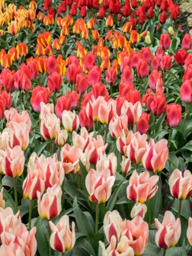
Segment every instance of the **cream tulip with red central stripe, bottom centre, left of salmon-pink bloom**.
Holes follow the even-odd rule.
[[[111,242],[112,236],[115,236],[117,242],[119,241],[121,237],[122,224],[122,218],[117,210],[113,210],[113,212],[108,211],[105,214],[104,232],[108,243]]]

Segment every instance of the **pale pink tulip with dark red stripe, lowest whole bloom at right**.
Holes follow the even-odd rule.
[[[155,243],[158,247],[163,249],[169,249],[177,244],[181,234],[180,219],[174,217],[174,215],[166,211],[162,224],[155,219],[157,226],[157,233],[155,235]]]

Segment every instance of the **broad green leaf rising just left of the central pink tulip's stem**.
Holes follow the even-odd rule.
[[[90,242],[90,244],[92,244],[94,238],[94,229],[85,213],[82,212],[79,205],[77,204],[77,197],[75,197],[74,199],[73,207],[75,207],[74,216],[76,218],[76,225],[79,229],[79,232],[84,233],[84,235],[87,235],[87,240]]]

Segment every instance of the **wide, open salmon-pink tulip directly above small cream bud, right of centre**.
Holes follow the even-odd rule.
[[[129,179],[129,186],[127,187],[127,198],[132,201],[144,203],[155,195],[158,186],[158,176],[149,177],[149,172],[144,171],[139,175],[137,171],[133,171]]]

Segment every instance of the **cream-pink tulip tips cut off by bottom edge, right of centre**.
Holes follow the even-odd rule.
[[[103,256],[133,256],[134,251],[132,247],[128,244],[128,238],[126,236],[121,237],[121,240],[116,246],[116,237],[112,236],[112,240],[108,245],[107,249],[105,249],[105,244],[99,241],[99,245],[102,248]]]

